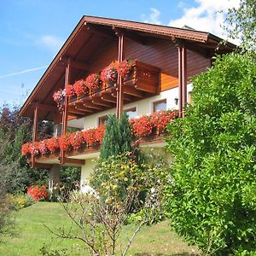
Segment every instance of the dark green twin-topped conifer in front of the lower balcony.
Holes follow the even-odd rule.
[[[115,115],[109,115],[106,132],[103,137],[101,158],[131,152],[131,130],[128,116],[122,113],[120,120]]]

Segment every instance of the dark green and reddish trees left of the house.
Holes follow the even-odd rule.
[[[0,114],[0,161],[9,166],[9,193],[25,192],[32,183],[44,183],[47,171],[34,169],[32,172],[26,159],[22,157],[20,148],[22,143],[31,139],[32,122],[21,118],[19,108],[4,106]],[[49,137],[50,125],[46,122],[39,123],[39,138]]]

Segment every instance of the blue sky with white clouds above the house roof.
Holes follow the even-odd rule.
[[[226,38],[225,14],[238,5],[239,0],[0,0],[0,106],[25,102],[83,15],[187,25]]]

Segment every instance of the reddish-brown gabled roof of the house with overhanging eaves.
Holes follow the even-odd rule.
[[[74,28],[71,35],[67,38],[65,44],[63,44],[61,47],[60,51],[57,53],[57,55],[55,55],[54,60],[50,63],[34,90],[32,90],[32,93],[30,96],[28,96],[22,108],[20,108],[20,115],[32,117],[33,102],[43,102],[49,105],[53,104],[52,99],[51,102],[49,101],[49,96],[51,98],[54,89],[58,88],[58,84],[64,84],[64,81],[62,81],[64,66],[61,61],[63,57],[74,56],[75,59],[80,59],[83,61],[88,60],[90,58],[90,52],[92,49],[96,49],[96,47],[101,44],[102,38],[100,36],[98,38],[94,37],[94,39],[90,39],[92,38],[90,36],[93,35],[93,31],[91,32],[90,30],[84,28],[86,27],[85,25],[97,26],[98,28],[102,29],[103,32],[108,32],[109,34],[113,33],[113,36],[113,28],[116,28],[125,30],[125,32],[137,33],[139,36],[164,38],[172,41],[183,40],[192,43],[194,42],[200,47],[216,48],[218,43],[222,41],[221,38],[218,38],[209,32],[200,32],[172,26],[160,26],[131,20],[116,20],[95,16],[83,16],[81,20],[79,20],[78,25]],[[102,37],[104,37],[104,34]],[[86,53],[81,54],[84,47],[83,40],[87,40],[90,43],[91,49],[88,49]],[[236,45],[228,43],[224,47],[226,48],[226,51],[230,51],[236,47]],[[78,75],[78,73],[74,73],[74,75]],[[55,88],[53,88],[54,86]],[[50,115],[50,112],[48,114]],[[46,117],[40,116],[40,118],[44,119]],[[51,119],[53,119],[53,117],[51,117]]]

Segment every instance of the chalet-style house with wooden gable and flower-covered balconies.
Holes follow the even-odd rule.
[[[228,43],[217,50],[221,40],[189,27],[82,17],[20,109],[21,116],[34,120],[32,143],[22,148],[27,160],[32,167],[49,168],[50,187],[58,182],[60,165],[81,166],[83,182],[99,154],[99,125],[108,113],[120,116],[124,110],[134,118],[177,109],[183,117],[192,90],[189,78],[211,67],[212,56],[234,48]],[[39,119],[55,123],[59,141],[37,142]],[[72,135],[72,146],[65,141],[68,127],[85,130]],[[163,136],[143,135],[142,147],[164,150]]]

